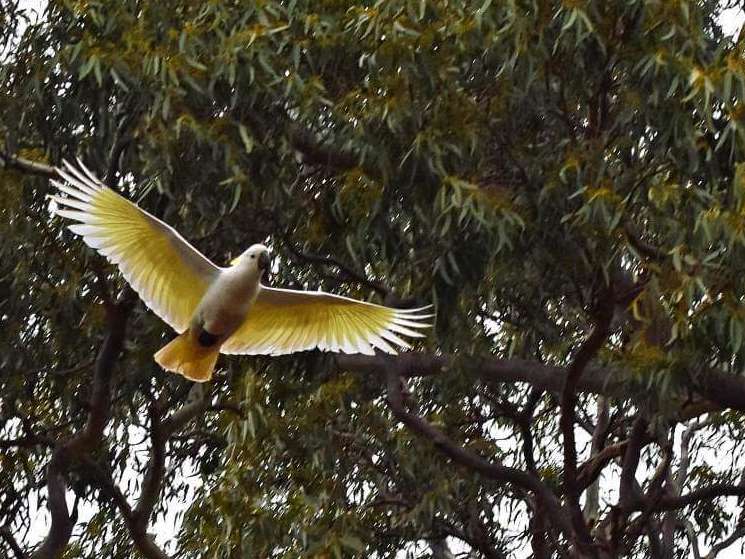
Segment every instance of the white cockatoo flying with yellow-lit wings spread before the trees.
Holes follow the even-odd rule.
[[[392,309],[321,291],[262,285],[269,251],[252,245],[220,268],[175,229],[104,186],[82,162],[57,169],[56,213],[69,228],[119,267],[155,314],[179,334],[155,354],[168,371],[195,382],[212,377],[220,353],[281,355],[318,348],[396,353],[411,346],[399,335],[423,337],[430,307]]]

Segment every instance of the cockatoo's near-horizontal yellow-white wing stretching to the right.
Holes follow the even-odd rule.
[[[321,291],[293,291],[261,286],[240,328],[223,344],[222,353],[281,355],[318,348],[365,353],[373,348],[396,353],[410,348],[399,334],[424,337],[416,329],[432,314],[420,309],[392,309]]]

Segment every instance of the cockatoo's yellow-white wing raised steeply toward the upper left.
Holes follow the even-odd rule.
[[[57,169],[65,182],[52,183],[67,196],[52,196],[57,214],[85,243],[119,266],[145,304],[181,333],[207,287],[215,266],[175,229],[105,187],[80,161]]]

